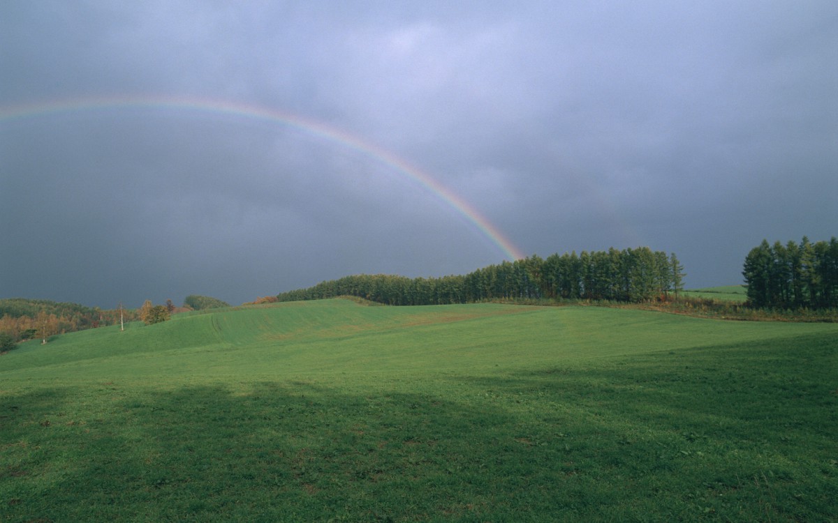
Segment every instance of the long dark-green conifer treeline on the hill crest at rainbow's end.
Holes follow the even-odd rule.
[[[489,265],[466,275],[406,278],[359,274],[277,295],[277,301],[351,295],[388,305],[445,305],[485,300],[658,300],[682,290],[675,254],[648,247],[537,255]],[[274,301],[261,299],[261,301]]]

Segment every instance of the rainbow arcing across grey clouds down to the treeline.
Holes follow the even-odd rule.
[[[469,205],[463,198],[458,197],[447,187],[438,182],[427,172],[411,165],[406,160],[396,156],[393,152],[365,141],[358,136],[350,135],[323,122],[311,120],[299,115],[283,112],[260,105],[247,105],[228,100],[214,100],[207,98],[179,98],[168,96],[113,96],[104,98],[87,98],[75,100],[58,100],[36,102],[32,104],[0,106],[0,122],[28,119],[35,116],[49,116],[87,110],[117,110],[125,108],[163,108],[178,110],[194,110],[212,112],[220,115],[230,115],[252,120],[266,120],[283,126],[291,126],[323,140],[333,141],[340,146],[348,147],[360,152],[364,156],[373,158],[418,183],[427,191],[432,192],[447,206],[453,208],[463,218],[477,227],[489,241],[496,245],[504,256],[510,260],[522,259],[525,256],[509,239],[505,238],[477,209]]]

